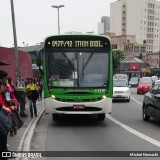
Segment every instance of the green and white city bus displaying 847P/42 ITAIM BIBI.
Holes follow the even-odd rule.
[[[112,112],[113,74],[110,39],[99,35],[56,35],[45,39],[37,65],[43,67],[46,113]]]

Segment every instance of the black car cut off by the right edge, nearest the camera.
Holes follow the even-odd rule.
[[[160,86],[154,86],[144,95],[142,117],[149,121],[150,117],[160,120]]]

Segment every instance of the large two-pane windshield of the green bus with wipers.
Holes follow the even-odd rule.
[[[46,52],[48,86],[105,87],[109,78],[109,53],[91,51]]]

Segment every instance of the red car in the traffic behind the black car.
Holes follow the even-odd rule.
[[[150,77],[143,77],[140,78],[138,87],[137,87],[137,94],[146,93],[152,87],[152,79]]]

